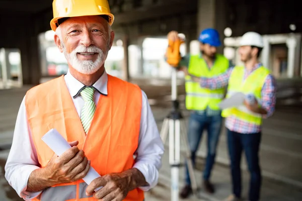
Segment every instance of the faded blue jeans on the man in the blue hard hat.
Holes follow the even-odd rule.
[[[204,129],[207,130],[207,157],[203,171],[204,180],[209,180],[215,162],[216,146],[220,135],[221,124],[222,117],[220,114],[208,116],[206,111],[203,114],[193,112],[189,118],[188,142],[193,165],[195,165],[196,151],[201,141],[202,133]],[[187,165],[185,174],[186,184],[190,185],[191,181]]]

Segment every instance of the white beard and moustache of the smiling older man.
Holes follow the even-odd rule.
[[[78,72],[87,75],[97,72],[105,63],[105,60],[108,55],[108,51],[104,53],[100,48],[96,46],[86,47],[84,45],[79,45],[69,54],[67,53],[66,48],[62,42],[61,42],[61,46],[63,48],[64,56],[67,59],[67,62],[71,65],[71,67],[77,70]],[[98,53],[98,57],[95,61],[92,60],[80,61],[77,57],[77,53],[82,53],[82,52]]]

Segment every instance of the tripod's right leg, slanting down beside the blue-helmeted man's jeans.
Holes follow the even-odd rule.
[[[188,165],[189,176],[190,176],[190,180],[191,180],[192,191],[193,191],[193,194],[197,195],[197,182],[196,182],[195,175],[194,175],[194,168],[193,168],[193,162],[191,159],[191,151],[189,149],[187,130],[186,130],[185,123],[183,121],[181,121],[181,131],[182,131],[181,137],[185,144],[187,165]]]

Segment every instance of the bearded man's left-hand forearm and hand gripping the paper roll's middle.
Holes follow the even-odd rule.
[[[46,167],[34,170],[28,179],[27,191],[38,192],[59,183],[70,183],[82,179],[89,171],[90,161],[79,150],[78,141],[62,155],[54,154]]]

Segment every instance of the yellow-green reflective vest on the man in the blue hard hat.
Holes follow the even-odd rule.
[[[230,62],[223,55],[217,54],[214,65],[209,69],[200,55],[190,56],[188,72],[197,77],[214,77],[224,73],[229,68]],[[186,108],[187,110],[201,111],[209,107],[219,110],[218,104],[224,95],[224,88],[208,89],[200,87],[199,82],[194,82],[187,75],[186,80]]]

